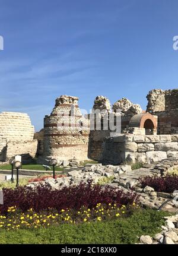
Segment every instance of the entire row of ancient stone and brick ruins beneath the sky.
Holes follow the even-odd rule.
[[[107,97],[97,96],[93,111],[100,113],[84,117],[78,97],[62,95],[56,99],[52,113],[45,116],[44,128],[36,134],[27,114],[2,112],[0,161],[15,154],[37,156],[44,161],[53,157],[59,162],[75,158],[112,164],[151,163],[177,157],[178,89],[152,90],[147,99],[144,111],[126,98],[111,105]],[[113,133],[110,126],[104,128],[104,122],[111,122],[110,113],[114,116],[113,124],[120,115],[119,132]],[[100,118],[100,129],[96,116]]]

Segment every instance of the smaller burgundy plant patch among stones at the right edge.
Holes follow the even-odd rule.
[[[173,193],[174,190],[178,190],[178,176],[177,175],[166,175],[164,177],[144,177],[139,179],[141,187],[146,186],[152,187],[157,192]]]

